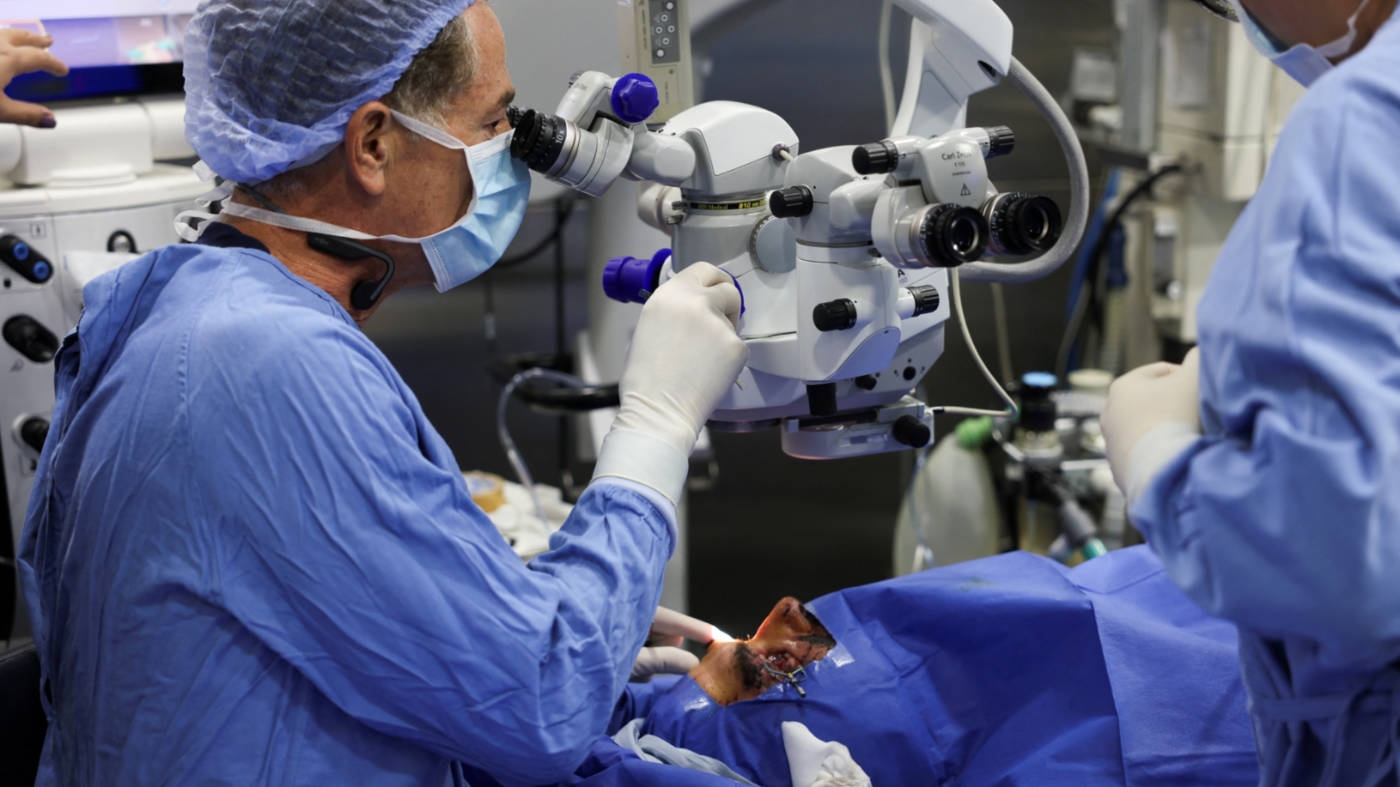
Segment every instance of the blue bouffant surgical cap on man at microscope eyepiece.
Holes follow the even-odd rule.
[[[185,38],[185,136],[260,183],[321,160],[476,0],[204,0]]]

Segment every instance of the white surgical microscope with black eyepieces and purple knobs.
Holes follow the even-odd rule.
[[[1011,70],[1009,20],[991,0],[900,4],[924,22],[896,122],[904,136],[799,153],[781,118],[728,101],[651,130],[655,91],[648,102],[637,76],[596,71],[575,78],[557,115],[517,118],[514,153],[553,181],[594,196],[622,178],[650,183],[640,216],[671,234],[671,253],[613,260],[612,297],[644,301],[697,262],[735,279],[749,364],[710,426],[777,426],[794,457],[925,445],[934,412],[910,392],[944,351],[948,270],[1060,239],[1053,202],[1001,195],[987,175],[1011,130],[962,127],[967,99]]]

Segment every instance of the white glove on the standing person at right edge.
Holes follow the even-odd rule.
[[[1113,480],[1131,503],[1201,433],[1200,354],[1191,350],[1182,365],[1156,363],[1117,378],[1100,423]]]

